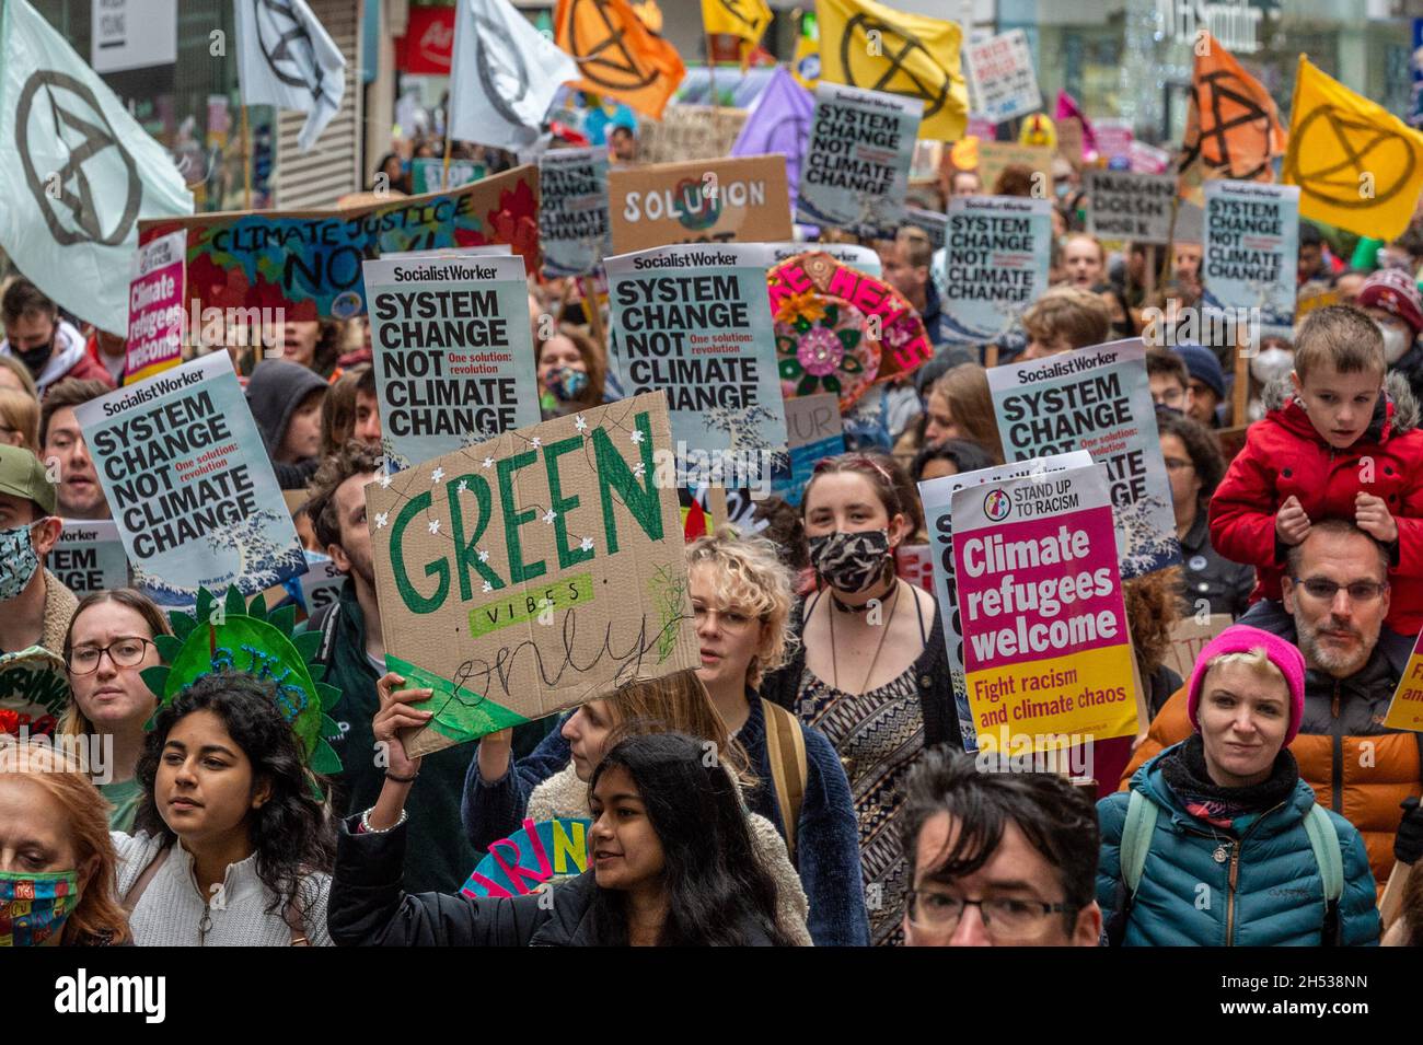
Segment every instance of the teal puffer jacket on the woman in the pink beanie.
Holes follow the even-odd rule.
[[[1167,748],[1131,778],[1131,789],[1154,800],[1155,833],[1131,904],[1126,947],[1318,947],[1325,923],[1323,877],[1305,832],[1315,792],[1299,781],[1294,795],[1254,820],[1237,839],[1188,813],[1161,773]],[[1120,901],[1121,832],[1127,792],[1097,803],[1101,862],[1097,903],[1110,916]],[[1373,872],[1359,832],[1331,812],[1343,853],[1339,943],[1379,941]],[[1224,843],[1227,859],[1217,860]],[[1234,887],[1232,887],[1234,880]]]

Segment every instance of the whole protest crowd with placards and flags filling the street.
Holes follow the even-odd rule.
[[[0,943],[1423,945],[1423,134],[1210,34],[1183,141],[989,121],[1020,68],[821,0],[946,98],[771,58],[649,156],[647,6],[609,88],[576,6],[461,0],[363,192],[194,213],[0,3],[0,136],[57,70],[141,182],[0,216]],[[1305,107],[1402,189],[1303,176]]]

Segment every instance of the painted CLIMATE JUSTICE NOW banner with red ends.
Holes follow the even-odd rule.
[[[286,320],[366,311],[361,262],[391,250],[509,243],[538,272],[538,169],[350,210],[263,210],[139,222],[139,242],[188,232],[188,297],[205,313],[283,310]],[[228,320],[231,324],[232,320]]]

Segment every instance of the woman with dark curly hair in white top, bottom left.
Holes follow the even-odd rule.
[[[203,675],[154,722],[132,837],[114,835],[139,945],[330,945],[332,825],[276,687]]]

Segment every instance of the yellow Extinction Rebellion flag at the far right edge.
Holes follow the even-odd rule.
[[[1282,181],[1301,218],[1393,239],[1423,189],[1423,134],[1299,55]]]

